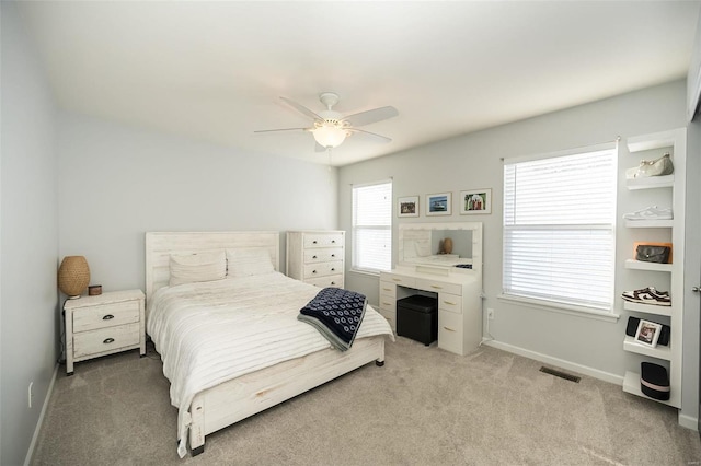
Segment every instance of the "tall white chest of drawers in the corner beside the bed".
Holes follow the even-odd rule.
[[[343,288],[345,232],[287,232],[287,276],[320,288]]]

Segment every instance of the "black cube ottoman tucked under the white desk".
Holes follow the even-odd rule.
[[[397,301],[397,335],[428,346],[438,339],[438,300],[415,294]]]

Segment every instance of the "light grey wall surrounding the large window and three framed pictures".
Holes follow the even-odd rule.
[[[341,168],[338,178],[340,228],[350,229],[350,185],[354,183],[392,177],[394,199],[421,196],[421,217],[411,219],[420,222],[435,219],[424,215],[426,194],[452,191],[455,201],[455,196],[460,190],[492,188],[492,214],[462,217],[456,213],[453,205],[453,214],[440,218],[440,221],[484,222],[484,307],[495,310],[495,319],[490,324],[491,335],[499,343],[514,350],[560,359],[571,366],[599,372],[605,378],[619,380],[627,370],[640,368],[641,361],[636,354],[622,349],[629,314],[622,310],[621,300],[617,300],[617,311],[622,318],[618,323],[608,323],[514,305],[496,298],[502,283],[501,158],[581,148],[613,141],[618,136],[624,141],[631,136],[686,127],[685,101],[686,85],[683,81],[678,81],[345,166]],[[625,148],[622,152],[621,172],[637,164],[637,159],[628,154]],[[629,195],[624,191],[624,187],[619,189],[621,214],[629,207]],[[698,190],[696,193],[698,195]],[[407,220],[410,219],[402,219]],[[689,228],[698,231],[699,219],[696,218],[696,224]],[[393,234],[395,263],[397,222]],[[629,249],[629,245],[619,241],[618,264],[630,257]],[[366,293],[370,303],[378,302],[376,277],[349,272],[346,283],[349,288]],[[617,279],[617,294],[624,290],[624,286],[622,278]],[[693,346],[694,342],[698,348],[698,326],[685,328],[685,348],[687,343]],[[692,383],[691,380],[698,380],[697,371],[698,364],[694,368],[685,366],[685,394],[687,391],[696,393],[697,382]],[[689,406],[691,399],[686,395],[683,399],[682,412],[696,418],[697,407]]]

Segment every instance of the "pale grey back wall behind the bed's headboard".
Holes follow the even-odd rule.
[[[59,253],[104,291],[143,289],[147,231],[336,228],[335,168],[72,114],[58,133]]]

